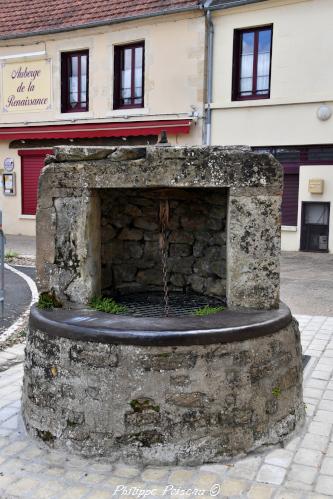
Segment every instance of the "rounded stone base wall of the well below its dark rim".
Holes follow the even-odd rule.
[[[250,339],[220,343],[215,331],[214,343],[149,346],[77,340],[68,324],[63,335],[50,333],[48,314],[42,327],[32,311],[23,417],[49,445],[194,465],[281,442],[304,418],[300,336],[290,315]]]

